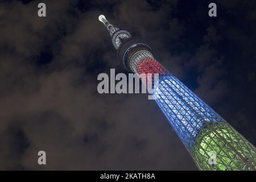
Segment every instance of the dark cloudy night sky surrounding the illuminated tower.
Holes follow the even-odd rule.
[[[197,170],[147,94],[98,94],[98,74],[127,73],[100,14],[256,145],[255,1],[0,3],[0,169]]]

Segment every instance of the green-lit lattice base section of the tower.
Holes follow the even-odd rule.
[[[201,170],[255,170],[256,150],[227,123],[212,123],[202,129],[193,147]]]

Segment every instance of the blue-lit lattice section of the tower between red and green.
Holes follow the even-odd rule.
[[[225,122],[171,74],[159,78],[154,97],[189,151],[192,151],[193,143],[205,123]]]

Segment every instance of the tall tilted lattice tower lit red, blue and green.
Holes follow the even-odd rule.
[[[159,74],[155,101],[199,169],[255,170],[253,144],[158,63],[143,39],[114,27],[104,15],[99,20],[110,32],[118,61],[127,71]]]

